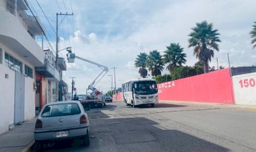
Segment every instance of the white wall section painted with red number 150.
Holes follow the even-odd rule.
[[[236,104],[256,105],[256,73],[232,77]]]

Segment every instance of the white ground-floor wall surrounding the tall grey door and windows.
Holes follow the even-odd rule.
[[[12,50],[0,43],[2,49],[2,63],[0,63],[0,134],[9,130],[9,126],[13,126],[14,122],[14,96],[15,96],[15,71],[9,69],[5,65],[5,52],[11,54],[22,62],[22,73],[24,74],[24,65],[28,65],[33,69],[34,67],[24,61],[20,56],[15,54]],[[8,79],[5,78],[8,75]],[[24,119],[29,120],[35,116],[35,91],[33,89],[34,77],[25,78],[25,103],[24,103]]]

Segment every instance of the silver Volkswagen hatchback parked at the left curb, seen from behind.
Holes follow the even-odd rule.
[[[36,148],[44,143],[67,139],[83,139],[90,145],[89,120],[79,101],[53,102],[46,104],[38,115],[34,129]]]

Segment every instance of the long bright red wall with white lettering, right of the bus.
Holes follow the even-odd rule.
[[[159,100],[234,104],[229,69],[158,84]]]

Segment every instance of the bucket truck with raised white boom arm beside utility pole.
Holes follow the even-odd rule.
[[[93,61],[90,61],[88,59],[84,59],[82,57],[75,56],[75,53],[72,53],[71,50],[67,50],[67,51],[68,51],[67,61],[69,63],[74,63],[75,59],[79,59],[79,60],[85,61],[87,63],[91,63],[93,65],[96,65],[100,69],[102,69],[100,74],[98,74],[96,76],[96,78],[92,81],[92,83],[90,83],[90,85],[86,89],[86,98],[84,98],[80,101],[81,104],[84,107],[98,106],[98,107],[102,108],[103,106],[106,106],[106,102],[104,100],[103,93],[98,91],[98,89],[96,89],[95,85],[97,85],[97,83],[102,79],[102,77],[104,77],[104,75],[106,75],[106,73],[108,72],[108,67],[106,67],[104,65],[100,65],[100,64],[95,63]]]

